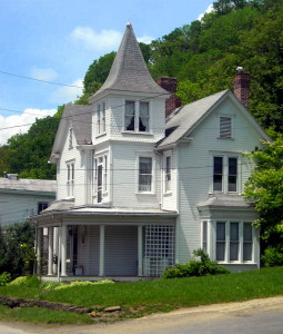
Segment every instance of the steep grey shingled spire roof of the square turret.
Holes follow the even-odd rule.
[[[103,86],[89,98],[93,102],[104,90],[145,92],[153,96],[168,97],[169,92],[161,88],[151,77],[131,23],[125,32]]]

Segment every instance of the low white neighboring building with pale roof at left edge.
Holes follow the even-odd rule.
[[[54,202],[55,180],[19,179],[17,174],[0,177],[0,226],[22,223]]]

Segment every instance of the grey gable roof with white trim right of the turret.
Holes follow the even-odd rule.
[[[158,148],[165,148],[175,145],[180,139],[192,131],[223,99],[230,97],[244,112],[250,121],[254,125],[263,138],[270,140],[269,136],[257,125],[247,109],[235,98],[229,89],[213,94],[192,104],[185,105],[173,111],[166,119],[165,130],[168,136],[163,138]]]

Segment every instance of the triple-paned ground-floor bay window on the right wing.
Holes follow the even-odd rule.
[[[252,223],[228,220],[215,222],[215,259],[226,263],[251,262],[254,245]]]

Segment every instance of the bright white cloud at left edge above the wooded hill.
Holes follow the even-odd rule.
[[[57,109],[26,109],[20,115],[0,116],[0,145],[17,134],[26,134],[37,118],[53,116]]]

